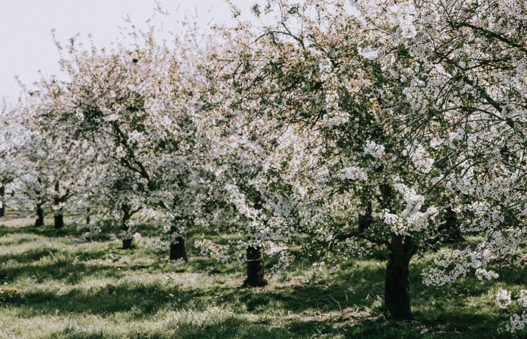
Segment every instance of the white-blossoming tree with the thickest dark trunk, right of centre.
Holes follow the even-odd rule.
[[[387,248],[386,315],[411,318],[409,261],[446,236],[440,224],[451,202],[432,190],[441,167],[428,149],[430,127],[414,125],[415,103],[401,90],[411,82],[388,72],[401,57],[376,51],[376,26],[357,7],[269,2],[265,12],[273,4],[276,25],[254,33],[241,23],[233,37],[237,108],[252,121],[315,136],[304,147],[316,150],[316,161],[305,170],[326,173],[314,176],[316,208],[302,211],[310,222],[295,227],[309,244]]]

